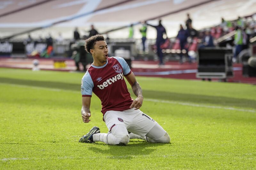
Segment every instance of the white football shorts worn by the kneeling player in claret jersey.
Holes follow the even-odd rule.
[[[157,124],[157,122],[140,111],[131,108],[124,111],[107,111],[104,115],[104,121],[108,130],[118,124],[123,124],[128,132],[145,137],[146,134]]]

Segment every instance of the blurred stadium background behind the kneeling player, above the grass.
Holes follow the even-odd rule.
[[[40,69],[86,70],[92,56],[85,53],[83,45],[93,25],[107,38],[110,56],[124,57],[138,76],[256,83],[251,78],[255,77],[255,58],[248,63],[255,55],[254,0],[13,0],[1,1],[0,6],[1,67],[31,69],[33,59],[38,59]],[[180,49],[176,36],[180,24],[189,30],[187,14],[197,35],[190,35],[185,48]],[[156,29],[147,26],[143,51],[140,28],[142,21],[158,25],[160,18],[168,41],[162,47],[165,65],[158,67]],[[133,33],[129,37],[131,24]],[[243,52],[232,57],[231,53],[236,53],[236,26],[243,30],[245,43]],[[79,38],[74,37],[75,29]],[[224,50],[223,56],[208,60],[207,51],[198,51],[206,31],[213,37],[214,49],[232,52]],[[224,55],[228,54],[225,62]],[[190,63],[181,65],[178,61]]]

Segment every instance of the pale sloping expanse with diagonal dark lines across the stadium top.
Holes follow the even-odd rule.
[[[51,33],[72,38],[74,27],[88,34],[94,24],[99,32],[129,26],[141,20],[157,24],[161,17],[168,37],[175,36],[179,25],[190,13],[196,29],[219,24],[221,17],[236,19],[255,13],[255,0],[4,0],[0,2],[0,37],[20,33],[36,27],[44,29],[31,33],[32,37]],[[98,10],[98,11],[97,11]],[[169,15],[167,15],[169,14]],[[63,22],[64,21],[64,22]],[[59,24],[56,24],[59,23]],[[135,38],[140,38],[140,25],[134,27]],[[27,34],[23,35],[27,36]],[[127,38],[128,29],[109,33],[110,38]],[[148,38],[156,31],[148,28]]]

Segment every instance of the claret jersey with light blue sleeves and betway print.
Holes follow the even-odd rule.
[[[124,76],[131,74],[128,64],[122,57],[108,57],[107,63],[97,67],[91,65],[81,83],[83,97],[92,97],[92,92],[101,100],[103,115],[109,111],[130,109],[132,98]]]

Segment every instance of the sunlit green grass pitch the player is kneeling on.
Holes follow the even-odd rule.
[[[108,131],[95,95],[82,122],[82,76],[0,69],[0,169],[256,168],[255,85],[137,77],[141,110],[172,144],[109,146],[78,143],[92,126]]]

